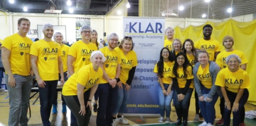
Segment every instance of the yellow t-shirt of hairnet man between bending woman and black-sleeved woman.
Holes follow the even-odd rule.
[[[121,63],[120,53],[118,53],[115,49],[109,50],[109,48],[104,47],[101,48],[100,51],[106,57],[106,62],[103,64],[103,68],[107,73],[109,78],[114,79],[116,75],[116,67]],[[102,78],[101,83],[108,83],[104,78]]]

